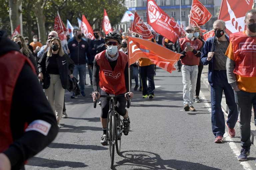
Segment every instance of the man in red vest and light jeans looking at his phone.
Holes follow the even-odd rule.
[[[196,81],[198,74],[198,64],[201,56],[202,42],[193,38],[193,27],[186,28],[186,37],[179,39],[177,42],[178,53],[182,64],[182,81],[183,81],[183,104],[185,111],[195,112],[193,99],[196,95]]]

